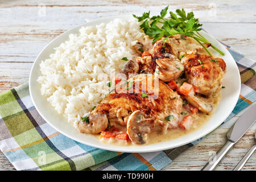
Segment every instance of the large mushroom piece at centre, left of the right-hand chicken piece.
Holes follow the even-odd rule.
[[[180,61],[172,59],[157,59],[155,75],[159,77],[160,80],[167,82],[178,78],[184,70],[183,64]]]

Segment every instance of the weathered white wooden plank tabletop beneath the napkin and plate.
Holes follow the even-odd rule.
[[[256,1],[2,1],[0,0],[0,93],[28,81],[38,53],[69,28],[106,16],[158,14],[163,7],[192,10],[204,28],[217,39],[256,60]],[[210,151],[225,143],[226,131],[242,113],[189,148],[163,170],[200,170]],[[232,170],[254,144],[256,126],[234,145],[219,170]],[[0,153],[0,170],[15,170]],[[256,170],[256,154],[243,170]]]

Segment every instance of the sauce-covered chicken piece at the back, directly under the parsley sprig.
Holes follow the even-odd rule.
[[[164,38],[158,40],[154,44],[153,57],[155,59],[169,58],[172,56],[179,58],[181,54],[196,53],[203,49],[195,39],[184,36],[183,38],[181,38],[181,35],[173,35],[164,42]],[[204,46],[209,47],[210,44],[204,44]]]

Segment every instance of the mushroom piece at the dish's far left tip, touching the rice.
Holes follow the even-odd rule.
[[[108,117],[106,114],[89,115],[89,122],[79,121],[77,127],[81,133],[97,134],[108,127]]]

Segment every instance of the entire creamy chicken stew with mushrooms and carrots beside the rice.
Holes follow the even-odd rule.
[[[226,71],[223,59],[180,35],[155,43],[145,36],[134,49],[138,56],[112,79],[112,92],[77,123],[81,133],[141,145],[187,134],[209,119]]]

